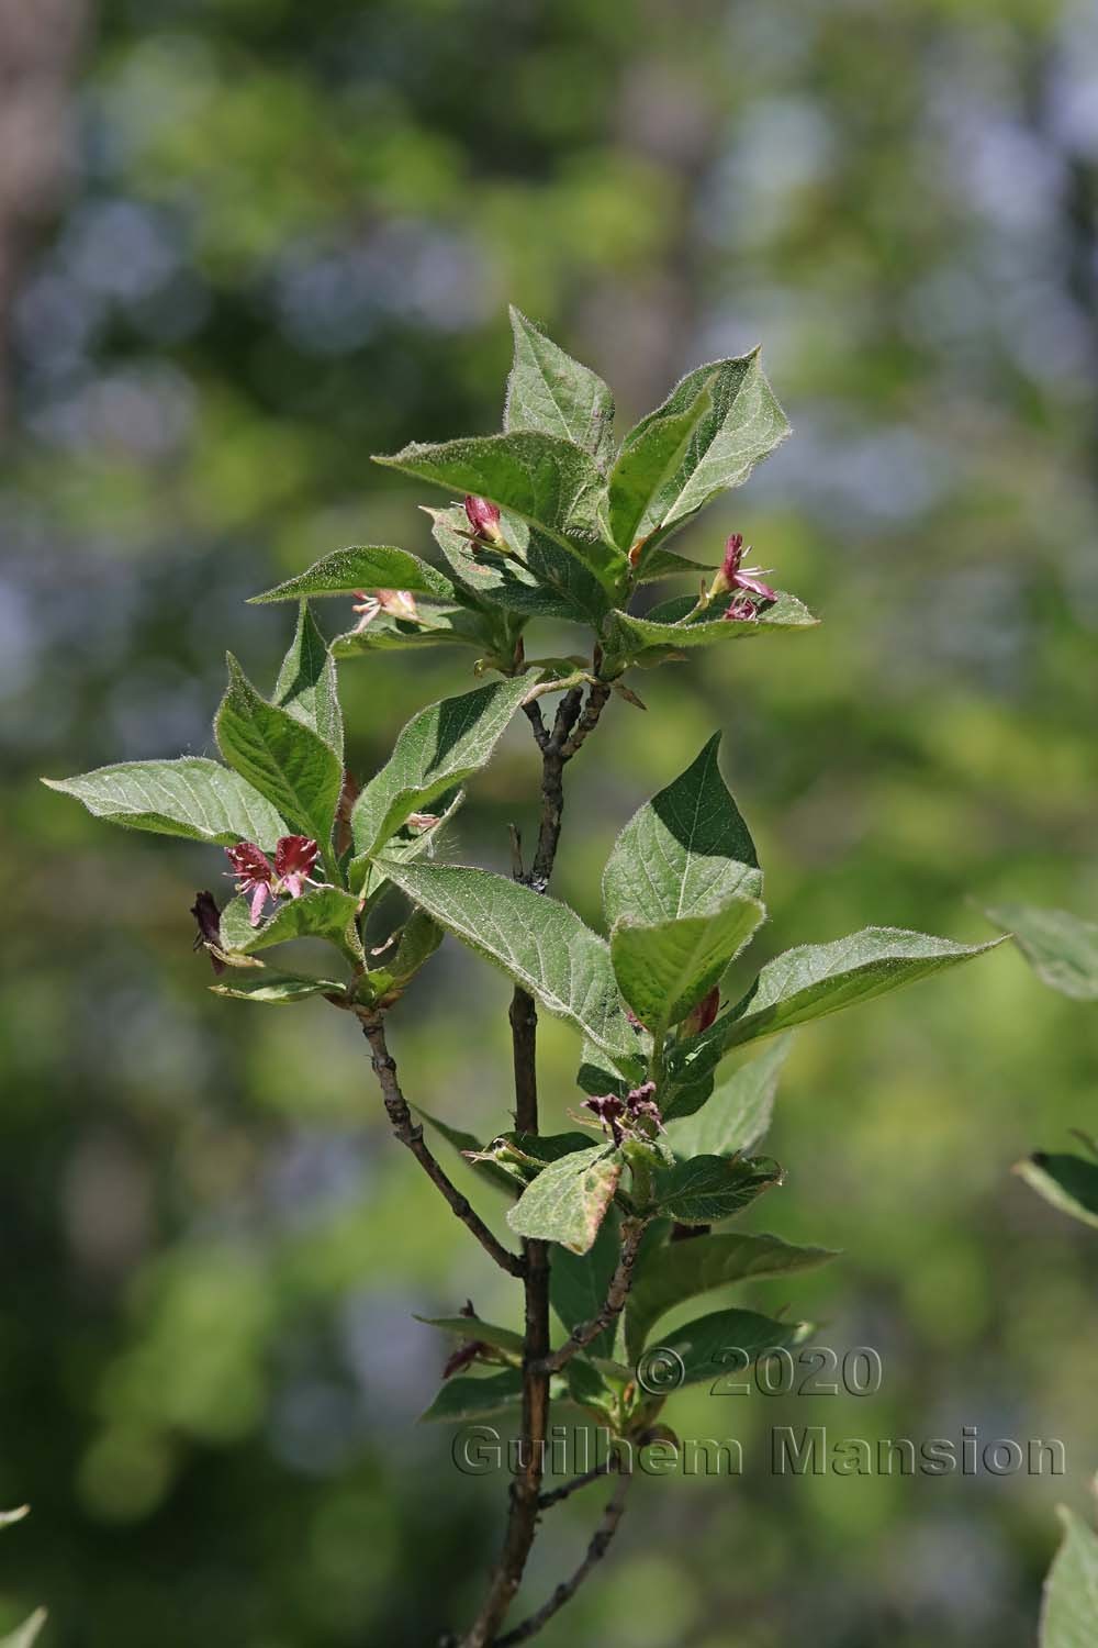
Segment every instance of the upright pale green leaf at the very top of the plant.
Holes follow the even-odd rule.
[[[515,359],[507,379],[504,428],[561,435],[606,470],[614,452],[614,396],[607,384],[565,354],[514,305],[510,326]]]

